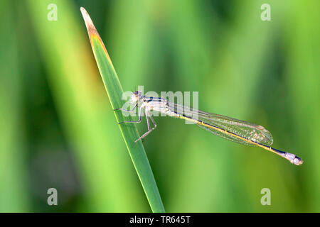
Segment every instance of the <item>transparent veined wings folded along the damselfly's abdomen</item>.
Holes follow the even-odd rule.
[[[188,117],[198,119],[200,121],[203,121],[204,123],[208,123],[211,126],[218,127],[220,129],[226,130],[230,133],[234,133],[235,135],[239,135],[242,138],[249,139],[262,145],[271,146],[273,143],[271,133],[264,127],[256,125],[255,123],[240,121],[238,119],[230,118],[228,116],[222,116],[219,114],[209,114],[196,109],[189,109],[189,107],[182,106],[180,104],[169,103],[169,109],[176,112],[177,114],[184,114]],[[227,140],[231,140],[236,143],[242,143],[245,145],[253,145],[252,143],[248,143],[247,141],[241,140],[240,138],[237,138],[233,135],[225,134],[218,130],[215,130],[215,128],[209,128],[200,124],[197,124],[197,126]]]

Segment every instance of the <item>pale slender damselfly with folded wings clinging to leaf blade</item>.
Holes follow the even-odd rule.
[[[271,145],[273,143],[273,138],[271,133],[264,127],[254,123],[240,121],[228,116],[209,114],[204,111],[190,109],[187,106],[174,104],[163,98],[144,96],[144,94],[139,91],[132,94],[130,101],[132,104],[134,104],[134,107],[131,110],[121,108],[114,110],[132,112],[138,107],[138,121],[122,121],[120,123],[140,123],[142,119],[142,110],[144,109],[148,131],[137,138],[134,143],[137,143],[137,141],[146,137],[146,135],[151,133],[151,131],[156,128],[156,122],[154,121],[154,118],[152,118],[150,111],[158,111],[168,116],[185,119],[186,121],[192,121],[200,128],[204,128],[210,133],[218,135],[227,140],[269,150],[272,153],[284,157],[294,165],[301,165],[303,163],[303,160],[297,155],[272,148]],[[152,123],[154,124],[152,128],[149,119],[151,119]]]

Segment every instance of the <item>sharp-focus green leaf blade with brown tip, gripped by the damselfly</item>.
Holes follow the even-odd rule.
[[[114,70],[110,56],[105,48],[99,33],[92,23],[90,16],[87,11],[81,7],[80,9],[82,17],[84,18],[85,25],[87,27],[87,32],[90,38],[90,43],[92,47],[92,52],[95,55],[95,60],[100,71],[103,83],[105,84],[105,89],[110,99],[112,109],[116,109],[122,106],[122,94],[123,89],[117,77],[117,73]],[[114,112],[117,122],[124,121],[124,116],[119,111]],[[142,183],[144,193],[149,201],[151,210],[153,212],[165,212],[164,205],[161,201],[161,196],[159,194],[159,189],[156,186],[156,181],[152,173],[149,160],[146,157],[146,152],[142,142],[139,141],[134,146],[134,140],[139,138],[139,133],[135,125],[126,126],[124,124],[119,125],[124,142],[127,145],[129,155],[132,159],[134,167],[137,171],[137,175]]]

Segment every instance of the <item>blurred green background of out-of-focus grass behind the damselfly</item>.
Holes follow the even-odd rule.
[[[58,21],[48,21],[52,3]],[[265,3],[272,21],[260,19]],[[80,6],[124,91],[199,92],[199,109],[265,126],[274,148],[304,160],[158,117],[144,146],[166,211],[320,211],[320,1],[4,0],[1,212],[151,211]],[[47,204],[51,187],[58,206]],[[262,188],[271,206],[260,204]]]

